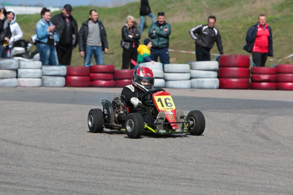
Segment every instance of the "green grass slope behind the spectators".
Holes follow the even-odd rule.
[[[171,24],[169,49],[194,51],[194,42],[188,31],[196,25],[207,23],[209,15],[217,17],[216,28],[220,31],[223,41],[224,54],[246,54],[242,48],[248,28],[257,22],[261,13],[267,15],[267,22],[273,33],[273,59],[282,59],[293,53],[293,1],[292,0],[149,0],[153,13],[165,11],[166,21]],[[74,7],[72,12],[78,21],[79,28],[88,18],[90,9],[97,9],[100,20],[105,25],[109,55],[104,55],[105,64],[114,64],[120,69],[122,66],[122,48],[120,47],[121,28],[127,15],[133,15],[139,21],[140,2],[131,2],[121,7],[100,8],[89,6]],[[53,12],[52,16],[59,12]],[[39,14],[18,15],[17,21],[29,39],[35,33],[35,24],[40,19]],[[146,17],[141,42],[147,38],[151,20]],[[214,45],[211,53],[218,54]],[[213,59],[213,57],[212,57]],[[269,58],[272,59],[272,58]],[[279,63],[289,63],[291,59]],[[170,52],[171,63],[187,63],[195,61],[194,54]],[[272,66],[278,61],[268,60],[266,66]],[[83,58],[75,49],[72,65],[83,65]]]

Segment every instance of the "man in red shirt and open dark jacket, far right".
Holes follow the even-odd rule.
[[[272,52],[272,28],[267,24],[266,15],[258,16],[257,24],[251,26],[246,35],[247,44],[244,50],[252,52],[252,61],[255,66],[265,66],[268,56]]]

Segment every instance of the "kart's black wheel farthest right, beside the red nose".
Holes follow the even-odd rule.
[[[192,136],[200,136],[204,133],[206,128],[206,119],[199,110],[192,110],[187,115],[189,121],[188,130]]]

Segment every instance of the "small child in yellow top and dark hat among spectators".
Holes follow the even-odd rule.
[[[152,47],[151,39],[145,39],[144,44],[140,44],[137,48],[138,57],[137,62],[151,62],[152,64],[155,63],[154,60],[150,59],[150,48]]]

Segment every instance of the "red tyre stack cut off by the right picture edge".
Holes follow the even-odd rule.
[[[277,90],[293,90],[293,64],[276,66]]]

